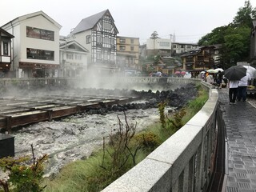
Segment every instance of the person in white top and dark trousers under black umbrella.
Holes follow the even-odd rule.
[[[243,66],[231,66],[225,70],[224,75],[229,80],[230,104],[235,104],[238,94],[238,83],[241,78],[246,76],[246,68]]]

